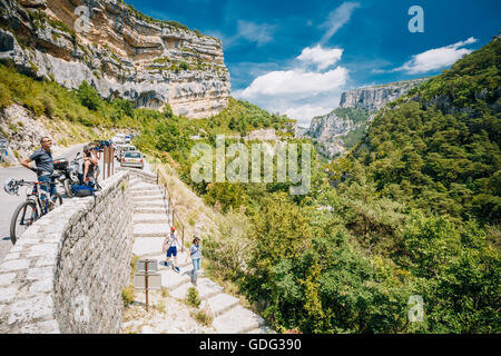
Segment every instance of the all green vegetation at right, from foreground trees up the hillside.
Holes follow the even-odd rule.
[[[206,239],[206,255],[275,328],[501,330],[500,46],[381,111],[328,177],[314,172],[306,197],[247,190],[245,214]],[[224,198],[237,200],[229,188]],[[421,323],[407,317],[412,295],[424,300]]]

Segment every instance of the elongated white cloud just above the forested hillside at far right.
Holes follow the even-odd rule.
[[[410,61],[405,62],[400,68],[393,69],[393,71],[406,71],[410,75],[419,75],[452,66],[456,60],[472,52],[462,47],[477,41],[475,38],[470,37],[465,41],[428,50],[423,53],[413,56]]]

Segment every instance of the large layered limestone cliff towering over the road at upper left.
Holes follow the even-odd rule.
[[[78,14],[77,14],[78,13]],[[222,42],[118,0],[0,0],[0,60],[67,88],[203,118],[227,106]]]

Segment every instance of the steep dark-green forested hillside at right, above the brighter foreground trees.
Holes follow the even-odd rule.
[[[455,219],[499,224],[500,52],[494,40],[394,101],[346,164],[362,166],[381,196]]]

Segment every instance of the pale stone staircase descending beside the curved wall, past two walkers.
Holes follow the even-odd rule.
[[[170,229],[168,206],[163,192],[157,185],[143,181],[140,178],[130,180],[134,209],[134,247],[132,254],[140,258],[151,258],[159,261],[158,271],[161,275],[161,285],[170,297],[183,301],[186,299],[191,284],[191,259],[178,251],[177,263],[180,273],[176,273],[173,266],[165,266],[165,255],[161,253],[161,244]],[[244,308],[239,299],[223,293],[223,287],[203,277],[198,273],[198,296],[203,304],[209,306],[214,319],[212,327],[218,334],[268,334],[274,333],[264,325],[264,319],[253,312]]]

